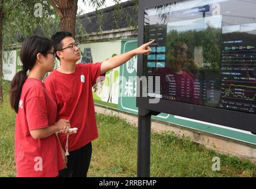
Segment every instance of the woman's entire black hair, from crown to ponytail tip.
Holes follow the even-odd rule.
[[[20,60],[23,64],[23,69],[15,74],[9,90],[11,107],[16,113],[18,113],[21,90],[27,79],[27,71],[33,68],[38,53],[47,56],[47,53],[49,53],[52,48],[53,45],[50,39],[39,37],[37,35],[28,37],[21,45]]]

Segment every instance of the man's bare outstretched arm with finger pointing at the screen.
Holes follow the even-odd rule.
[[[149,54],[151,53],[151,45],[155,40],[149,41],[141,45],[140,47],[136,48],[135,50],[128,51],[127,53],[119,54],[114,56],[101,64],[101,74],[106,73],[108,70],[112,70],[116,67],[121,66],[122,64],[126,63],[130,58],[134,57],[136,54]]]

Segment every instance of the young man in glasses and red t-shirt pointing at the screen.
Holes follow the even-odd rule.
[[[87,177],[92,153],[91,141],[98,137],[92,86],[108,70],[126,63],[136,54],[151,53],[149,45],[153,41],[103,63],[76,64],[81,56],[72,34],[60,31],[53,35],[52,40],[60,67],[44,83],[57,103],[56,121],[67,119],[72,128],[78,128],[78,133],[70,135],[68,139],[66,135],[59,135],[63,149],[68,147],[69,151],[67,168],[59,172],[59,177]]]

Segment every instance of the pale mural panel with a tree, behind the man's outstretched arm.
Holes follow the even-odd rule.
[[[111,48],[110,48],[111,47]],[[121,41],[81,44],[81,63],[97,63],[120,54]],[[119,97],[119,67],[105,74],[105,80],[92,87],[94,102],[117,108]]]

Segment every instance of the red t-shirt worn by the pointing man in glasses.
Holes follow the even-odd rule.
[[[57,120],[68,119],[78,132],[69,135],[68,150],[74,151],[98,137],[92,86],[100,81],[101,63],[76,64],[74,73],[54,70],[45,80],[46,89],[57,103]],[[66,135],[59,135],[63,149]]]

